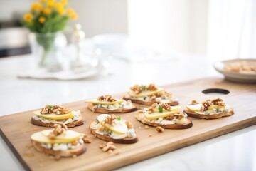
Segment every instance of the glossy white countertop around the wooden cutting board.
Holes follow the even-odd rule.
[[[141,61],[114,59],[110,74],[78,81],[17,78],[32,57],[0,58],[0,116],[48,104],[70,103],[102,94],[125,92],[135,83],[169,83],[220,76],[203,56],[174,56]],[[4,140],[0,140],[1,170],[23,170]],[[256,170],[256,125],[137,162],[119,170]]]

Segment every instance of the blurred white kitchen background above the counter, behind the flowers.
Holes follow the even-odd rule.
[[[0,0],[1,57],[31,52],[28,31],[20,21],[32,3]],[[69,4],[79,14],[70,26],[81,24],[86,38],[122,33],[129,36],[137,51],[147,49],[153,55],[256,58],[253,0],[70,0]],[[70,43],[71,31],[66,32]]]

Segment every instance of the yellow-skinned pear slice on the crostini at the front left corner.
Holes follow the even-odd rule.
[[[47,131],[53,131],[53,130],[47,130]],[[67,131],[67,135],[65,136],[65,138],[64,138],[64,136],[63,137],[60,136],[60,138],[50,139],[46,136],[47,132],[43,133],[43,131],[42,131],[42,132],[38,132],[38,133],[33,133],[31,135],[31,139],[36,142],[41,142],[41,143],[50,143],[50,144],[58,143],[58,144],[60,144],[60,143],[73,142],[80,138],[79,133],[76,133],[75,131],[68,133],[70,131],[71,130]],[[73,133],[73,132],[75,132],[75,133]]]

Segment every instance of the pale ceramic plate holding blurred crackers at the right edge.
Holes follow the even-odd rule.
[[[225,71],[224,67],[230,63],[246,61],[247,63],[256,62],[256,59],[233,59],[227,61],[219,61],[213,64],[213,67],[219,73],[225,76],[229,81],[236,81],[240,83],[256,83],[256,73],[235,73],[232,71]]]

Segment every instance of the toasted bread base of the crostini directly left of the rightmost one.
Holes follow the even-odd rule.
[[[184,129],[184,128],[191,128],[193,126],[192,121],[188,118],[186,118],[187,120],[186,124],[171,124],[171,125],[160,125],[159,123],[151,123],[147,120],[144,120],[143,113],[137,113],[137,115],[135,115],[135,118],[137,118],[137,120],[139,120],[140,122],[146,125],[151,125],[154,127],[161,126],[161,128],[167,128],[167,129]]]

